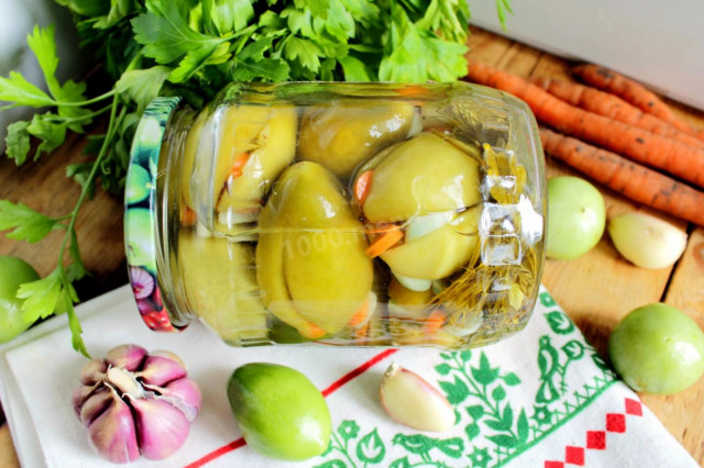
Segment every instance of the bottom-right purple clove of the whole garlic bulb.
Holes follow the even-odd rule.
[[[128,399],[134,409],[142,455],[151,460],[172,456],[188,436],[189,423],[184,413],[161,399]]]

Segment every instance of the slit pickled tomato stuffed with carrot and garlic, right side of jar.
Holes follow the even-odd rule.
[[[397,278],[425,280],[429,287],[470,261],[482,213],[476,159],[422,132],[365,163],[354,187],[365,177],[358,201],[366,221],[382,231],[392,223],[404,229],[403,239],[380,255]],[[372,232],[370,241],[375,238]]]

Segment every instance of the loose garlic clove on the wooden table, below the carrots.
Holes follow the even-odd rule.
[[[686,233],[650,214],[619,214],[608,221],[616,250],[641,268],[673,265],[686,247]]]

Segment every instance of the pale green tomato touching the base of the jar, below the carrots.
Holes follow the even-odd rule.
[[[548,257],[581,257],[598,243],[605,225],[604,198],[596,187],[571,176],[548,181]]]

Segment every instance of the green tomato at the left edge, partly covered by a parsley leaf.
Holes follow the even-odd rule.
[[[0,343],[9,342],[30,327],[22,319],[22,299],[16,298],[23,282],[40,279],[30,264],[9,255],[0,256]]]

